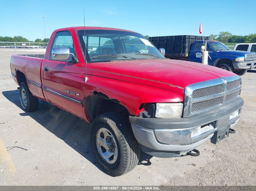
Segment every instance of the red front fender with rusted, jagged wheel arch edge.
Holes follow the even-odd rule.
[[[131,115],[139,115],[141,103],[183,102],[184,94],[152,86],[131,83],[111,78],[90,75],[88,81],[82,82],[82,96],[93,95],[94,92],[105,94],[108,99],[123,105]]]

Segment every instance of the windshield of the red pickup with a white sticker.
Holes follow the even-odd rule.
[[[144,36],[120,30],[77,30],[88,62],[165,58]]]

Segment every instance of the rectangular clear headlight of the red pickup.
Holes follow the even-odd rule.
[[[181,117],[183,103],[157,103],[156,118],[176,118]]]

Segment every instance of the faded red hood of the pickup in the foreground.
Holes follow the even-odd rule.
[[[195,62],[144,59],[88,63],[88,74],[184,93],[185,87],[201,81],[235,75]],[[125,88],[125,87],[124,87]]]

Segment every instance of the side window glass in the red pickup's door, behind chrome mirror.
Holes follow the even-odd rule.
[[[53,40],[52,49],[55,47],[68,47],[70,53],[76,56],[75,47],[73,44],[71,33],[69,31],[60,31],[56,33],[56,36]],[[50,58],[52,59],[52,50]],[[69,61],[72,61],[72,55],[70,55]]]

